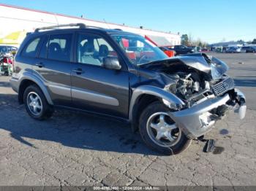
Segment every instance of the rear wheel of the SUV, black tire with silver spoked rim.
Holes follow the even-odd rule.
[[[34,101],[31,101],[31,98],[33,98]],[[23,102],[25,104],[26,111],[35,120],[46,120],[53,114],[53,106],[48,104],[45,95],[37,85],[30,85],[29,87],[26,87],[23,94]],[[34,107],[36,109],[34,109]]]

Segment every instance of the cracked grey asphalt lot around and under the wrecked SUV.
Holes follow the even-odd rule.
[[[0,185],[256,186],[256,55],[214,55],[230,66],[249,109],[242,121],[230,113],[217,122],[206,136],[217,141],[211,153],[193,141],[180,155],[162,156],[128,125],[78,112],[32,120],[9,77],[0,77]]]

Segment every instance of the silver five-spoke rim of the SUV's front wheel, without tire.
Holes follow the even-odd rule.
[[[172,147],[181,138],[181,129],[165,112],[157,112],[148,118],[148,136],[161,147]]]

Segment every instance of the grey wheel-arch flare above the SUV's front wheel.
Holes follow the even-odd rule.
[[[140,95],[154,95],[157,98],[165,99],[166,101],[170,102],[171,104],[175,105],[185,105],[183,101],[181,101],[180,98],[178,98],[176,95],[172,93],[168,93],[166,90],[163,90],[159,87],[154,87],[151,85],[141,85],[135,90],[133,90],[132,98],[129,104],[129,122],[132,123],[132,126],[134,126],[133,122],[133,112],[135,112],[135,106],[138,104],[138,98],[140,98]],[[135,130],[134,127],[132,127],[133,130]]]

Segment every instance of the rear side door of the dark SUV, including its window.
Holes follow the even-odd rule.
[[[53,104],[70,106],[72,33],[50,34],[41,44],[34,71],[48,87]]]

